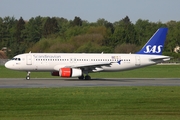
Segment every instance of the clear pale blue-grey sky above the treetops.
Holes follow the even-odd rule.
[[[105,19],[111,23],[126,16],[132,23],[138,19],[166,23],[180,21],[180,0],[0,0],[0,17],[29,20],[32,17],[75,16],[88,22]]]

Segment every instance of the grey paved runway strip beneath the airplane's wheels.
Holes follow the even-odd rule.
[[[180,78],[105,78],[78,80],[75,78],[0,78],[0,88],[50,88],[97,86],[180,86]]]

